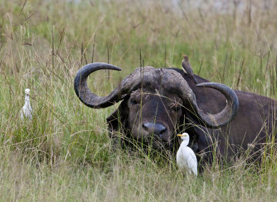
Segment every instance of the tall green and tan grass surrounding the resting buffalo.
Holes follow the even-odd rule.
[[[77,3],[78,2],[78,3]],[[237,90],[277,98],[276,1],[0,1],[1,201],[273,201],[276,146],[261,165],[215,162],[187,178],[175,158],[111,149],[105,118],[73,92],[82,65],[109,62],[89,81],[108,94],[140,66],[181,67]],[[33,120],[19,110],[31,90]]]

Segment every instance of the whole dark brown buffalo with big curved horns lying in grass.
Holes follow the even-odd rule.
[[[89,74],[100,69],[120,71],[105,63],[85,65],[75,76],[74,89],[91,108],[107,108],[122,100],[107,118],[111,135],[121,131],[139,142],[172,149],[176,133],[186,132],[197,153],[208,159],[217,151],[227,160],[249,146],[258,151],[276,135],[276,100],[210,83],[193,74],[190,65],[184,67],[190,73],[138,67],[108,96],[97,96],[87,87]]]

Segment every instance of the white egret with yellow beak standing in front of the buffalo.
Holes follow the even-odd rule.
[[[197,159],[193,149],[188,147],[190,136],[188,133],[183,133],[182,135],[178,134],[178,136],[181,137],[183,141],[181,142],[181,145],[177,151],[177,165],[180,169],[186,169],[188,174],[193,172],[193,174],[197,176]]]

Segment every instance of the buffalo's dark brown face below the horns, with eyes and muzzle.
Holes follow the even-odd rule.
[[[179,96],[169,92],[164,96],[135,90],[127,102],[127,128],[139,142],[170,146],[176,127],[183,124],[182,104]]]

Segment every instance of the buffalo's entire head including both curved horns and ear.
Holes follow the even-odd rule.
[[[219,128],[227,124],[238,111],[238,98],[229,87],[220,83],[201,83],[226,96],[226,106],[215,115],[206,114],[197,105],[197,99],[184,77],[174,69],[138,67],[107,96],[93,94],[87,86],[87,77],[93,71],[119,67],[105,63],[91,63],[75,76],[74,89],[82,103],[91,108],[107,108],[123,100],[118,109],[107,118],[111,134],[123,129],[135,140],[153,146],[170,146],[172,138],[184,126],[185,111],[197,117],[202,125]]]

